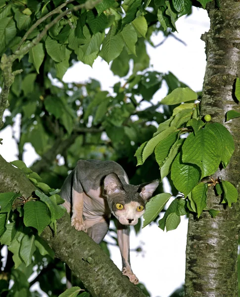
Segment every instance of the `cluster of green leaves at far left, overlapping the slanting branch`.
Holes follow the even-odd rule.
[[[17,160],[12,165],[21,169],[38,188],[42,188],[47,196],[39,190],[28,198],[20,193],[0,194],[0,243],[7,245],[13,254],[15,269],[21,264],[28,267],[32,264],[36,251],[41,255],[54,257],[54,252],[39,237],[49,225],[56,232],[56,220],[66,209],[59,205],[64,200],[56,193],[59,190],[50,189],[48,185],[39,182],[40,176],[28,168],[24,162]]]

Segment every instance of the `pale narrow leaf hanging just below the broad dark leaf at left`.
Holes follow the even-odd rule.
[[[20,256],[23,259],[26,266],[32,263],[33,253],[36,250],[35,247],[35,235],[28,236],[27,234],[22,238],[20,247]]]

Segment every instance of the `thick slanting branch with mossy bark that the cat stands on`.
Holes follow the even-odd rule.
[[[0,168],[0,193],[20,192],[28,197],[35,191],[21,170],[1,156]],[[71,227],[68,214],[57,221],[56,235],[52,236],[47,227],[41,236],[55,255],[81,279],[93,297],[145,297],[86,233]]]

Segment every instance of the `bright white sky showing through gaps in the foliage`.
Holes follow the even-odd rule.
[[[182,17],[176,23],[178,33],[174,33],[183,40],[187,46],[169,37],[165,43],[152,48],[147,46],[150,55],[151,70],[159,72],[171,71],[177,78],[186,83],[194,91],[202,89],[205,72],[206,57],[205,44],[200,40],[201,34],[209,30],[209,18],[203,9],[193,7],[193,14]],[[154,36],[152,41],[155,45],[163,40],[161,34]],[[103,90],[112,91],[111,87],[119,81],[109,69],[109,65],[98,57],[91,68],[78,62],[73,65],[64,75],[65,82],[84,83],[89,78],[95,78],[101,82]],[[163,86],[154,96],[154,102],[159,101],[166,95],[166,87]],[[6,113],[7,114],[7,111]],[[15,134],[18,134],[17,125]],[[12,139],[12,131],[8,127],[0,131],[3,145],[0,146],[0,154],[7,161],[16,159],[17,147]],[[25,147],[24,161],[29,166],[36,159],[37,154],[30,144]],[[169,192],[165,186],[166,192]],[[131,266],[140,282],[144,283],[151,297],[168,297],[173,291],[184,283],[185,276],[185,249],[187,241],[187,219],[181,217],[181,224],[174,231],[163,232],[156,224],[146,226],[136,236],[131,231],[131,248],[143,246],[144,252],[139,254],[131,252]],[[110,242],[110,237],[107,236]],[[111,258],[121,269],[122,261],[118,247],[110,246]],[[43,296],[46,296],[43,294]]]

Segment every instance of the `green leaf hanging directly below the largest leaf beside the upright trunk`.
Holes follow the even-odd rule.
[[[182,162],[182,152],[178,153],[171,168],[171,179],[176,189],[185,197],[200,181],[201,172],[196,165]]]

